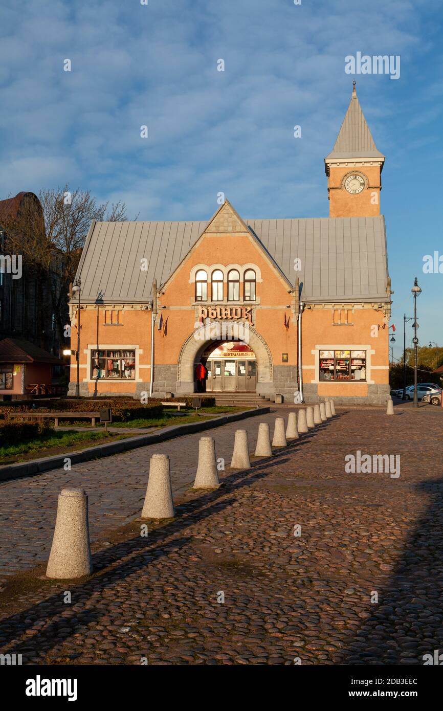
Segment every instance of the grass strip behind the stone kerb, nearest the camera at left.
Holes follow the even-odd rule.
[[[64,453],[85,449],[90,445],[103,444],[110,440],[115,442],[116,439],[122,439],[122,437],[126,437],[126,435],[103,432],[101,429],[98,432],[74,432],[73,430],[60,432],[55,430],[30,439],[28,442],[6,444],[6,446],[0,447],[0,464],[14,464],[17,461],[60,454],[60,451]]]

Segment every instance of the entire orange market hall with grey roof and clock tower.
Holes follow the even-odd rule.
[[[354,85],[325,159],[329,218],[242,218],[225,201],[209,221],[93,222],[77,274],[80,395],[385,402],[384,161]]]

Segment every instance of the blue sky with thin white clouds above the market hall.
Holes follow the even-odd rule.
[[[395,356],[415,276],[420,342],[443,346],[443,274],[422,272],[443,255],[441,36],[439,0],[3,0],[0,196],[68,182],[130,218],[203,220],[223,191],[247,218],[326,217],[356,78],[386,156]],[[347,75],[357,51],[400,55],[400,78]]]

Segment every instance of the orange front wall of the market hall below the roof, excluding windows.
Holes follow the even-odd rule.
[[[252,347],[257,355],[257,392],[270,397],[278,392],[284,395],[285,402],[297,402],[296,297],[254,238],[235,230],[230,234],[213,232],[205,235],[159,293],[159,311],[154,328],[154,394],[193,392],[193,364],[210,340],[206,336],[201,338],[203,326],[198,321],[198,306],[208,306],[211,302],[196,304],[194,280],[197,269],[206,269],[210,282],[212,269],[220,267],[227,275],[230,268],[237,268],[241,274],[244,265],[255,268],[257,272],[255,304],[242,301],[240,281],[238,302],[227,301],[225,282],[223,306],[252,306],[250,345],[255,343]],[[119,325],[105,324],[106,310],[119,311]],[[348,325],[339,324],[345,311]],[[163,326],[159,330],[160,314]],[[284,325],[285,314],[287,327]],[[368,306],[363,308],[358,304],[312,305],[304,311],[302,324],[303,380],[307,402],[314,402],[319,397],[336,397],[338,400],[343,397],[346,402],[385,401],[389,392],[388,326],[383,328],[383,311]],[[80,394],[139,397],[141,392],[149,391],[151,311],[146,307],[140,309],[136,304],[85,306],[82,308],[81,326]],[[373,335],[374,327],[377,335]],[[71,348],[75,349],[76,343],[77,330],[73,324]],[[100,349],[136,350],[136,380],[93,380],[90,377],[90,351],[97,346]],[[319,350],[345,349],[348,346],[367,351],[368,382],[319,383]],[[283,361],[283,354],[287,354],[287,362]],[[184,375],[185,371],[187,375]],[[71,395],[75,392],[75,378],[76,364],[75,358],[72,358]]]

